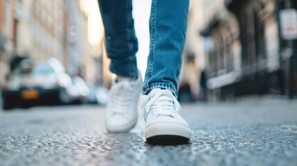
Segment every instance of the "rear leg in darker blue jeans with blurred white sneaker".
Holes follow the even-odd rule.
[[[109,132],[127,132],[137,122],[137,104],[142,77],[137,70],[137,39],[132,18],[132,0],[98,0],[105,26],[109,69],[117,75],[105,113]]]

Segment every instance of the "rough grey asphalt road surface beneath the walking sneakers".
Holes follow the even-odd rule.
[[[188,145],[148,145],[143,124],[107,133],[104,108],[0,111],[0,165],[297,165],[297,100],[183,104]]]

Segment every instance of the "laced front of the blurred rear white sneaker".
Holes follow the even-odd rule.
[[[119,82],[112,87],[109,100],[114,113],[124,113],[128,109],[132,90],[131,84],[127,81]]]

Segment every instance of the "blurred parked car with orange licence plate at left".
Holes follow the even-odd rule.
[[[8,75],[1,89],[3,109],[30,107],[44,102],[70,102],[67,89],[71,86],[71,78],[61,62],[51,58],[34,66],[28,64],[28,59],[23,60]]]

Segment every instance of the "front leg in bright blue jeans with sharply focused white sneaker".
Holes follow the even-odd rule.
[[[141,104],[145,139],[153,144],[187,143],[191,130],[177,101],[179,73],[186,40],[189,0],[152,0],[150,55]]]

